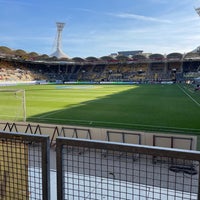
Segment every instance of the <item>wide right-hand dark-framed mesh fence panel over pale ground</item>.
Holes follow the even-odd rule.
[[[199,199],[200,152],[56,139],[57,198]]]

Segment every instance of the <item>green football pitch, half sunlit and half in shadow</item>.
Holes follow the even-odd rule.
[[[172,85],[30,85],[27,122],[200,134],[200,92]],[[17,103],[16,103],[17,102]],[[0,92],[0,119],[20,120],[22,99]]]

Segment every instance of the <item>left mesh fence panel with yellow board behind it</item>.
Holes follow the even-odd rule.
[[[0,199],[50,199],[48,136],[0,132]]]

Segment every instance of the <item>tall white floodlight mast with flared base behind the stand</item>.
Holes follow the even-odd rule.
[[[56,51],[51,54],[51,56],[55,56],[57,58],[68,58],[68,56],[62,51],[62,31],[65,26],[65,23],[56,22],[57,26],[57,37],[56,37]]]

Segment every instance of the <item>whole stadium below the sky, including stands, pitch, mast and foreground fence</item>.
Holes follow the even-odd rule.
[[[200,199],[198,48],[69,58],[57,41],[0,47],[0,197]]]

